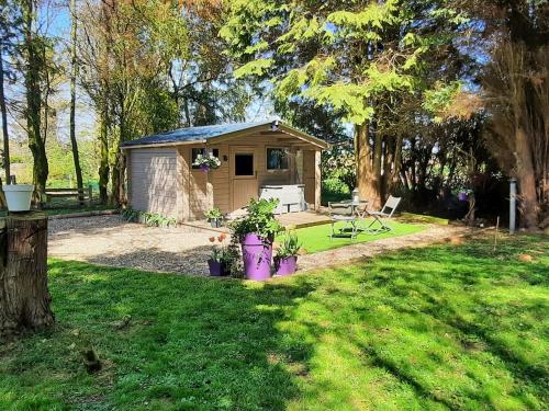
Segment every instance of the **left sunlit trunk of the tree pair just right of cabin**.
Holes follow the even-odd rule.
[[[379,207],[379,192],[373,178],[368,124],[355,126],[355,152],[357,153],[357,185],[361,199],[368,199],[371,207]]]

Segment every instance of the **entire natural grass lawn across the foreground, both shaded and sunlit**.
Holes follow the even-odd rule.
[[[549,400],[547,238],[517,236],[496,252],[491,241],[400,251],[264,284],[61,261],[49,273],[57,324],[0,344],[1,410],[541,410]],[[88,344],[104,364],[96,375],[80,358]]]

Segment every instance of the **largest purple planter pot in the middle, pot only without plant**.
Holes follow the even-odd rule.
[[[271,276],[272,240],[247,233],[242,240],[242,256],[246,278],[268,279]]]

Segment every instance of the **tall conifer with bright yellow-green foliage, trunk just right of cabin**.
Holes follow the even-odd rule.
[[[435,87],[429,62],[444,60],[433,56],[448,55],[464,22],[445,3],[237,0],[222,35],[242,64],[237,76],[269,78],[281,98],[313,100],[355,125],[358,187],[376,206],[402,151],[402,136],[384,133],[385,114]]]

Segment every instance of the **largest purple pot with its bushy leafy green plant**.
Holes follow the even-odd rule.
[[[281,226],[274,218],[277,199],[250,199],[248,214],[232,222],[233,236],[240,242],[244,274],[248,279],[270,277],[272,241]]]

